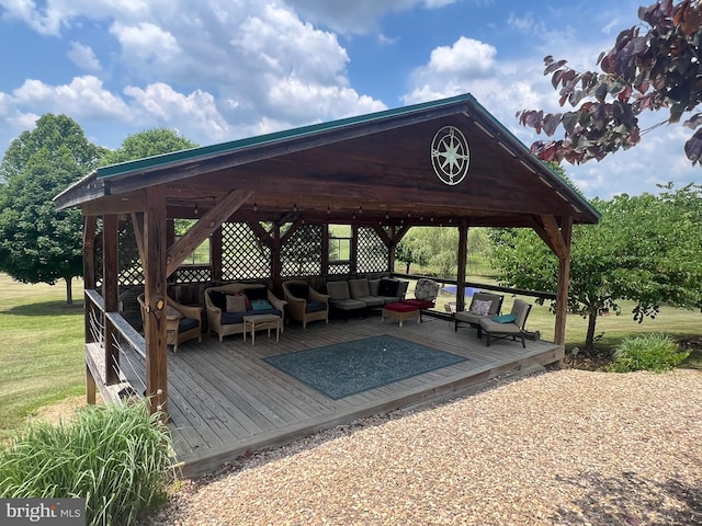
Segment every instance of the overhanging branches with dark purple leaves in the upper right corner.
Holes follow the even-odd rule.
[[[622,31],[614,47],[598,58],[601,72],[579,72],[566,60],[544,59],[544,75],[551,75],[559,104],[575,110],[544,114],[524,110],[518,114],[522,125],[553,136],[563,126],[564,138],[536,141],[531,149],[543,160],[581,163],[601,160],[620,148],[637,145],[647,129],[641,129],[638,115],[645,110],[668,110],[663,123],[679,123],[702,101],[702,3],[699,0],[661,0],[638,9],[639,26]],[[656,126],[658,126],[656,125]],[[697,129],[702,113],[688,116],[684,126]],[[692,164],[702,162],[702,129],[686,142]]]

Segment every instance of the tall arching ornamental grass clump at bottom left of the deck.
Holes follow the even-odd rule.
[[[174,456],[147,403],[90,405],[70,422],[31,422],[0,450],[0,496],[86,499],[90,525],[129,525],[166,502]]]

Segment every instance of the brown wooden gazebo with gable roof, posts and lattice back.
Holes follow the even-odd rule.
[[[102,364],[87,361],[89,399],[98,369],[101,386],[118,380],[112,342],[136,345],[140,338],[120,308],[120,236],[128,222],[148,310],[146,395],[166,412],[169,283],[259,279],[279,288],[288,276],[324,283],[392,273],[394,250],[410,227],[441,225],[460,232],[456,297],[463,298],[468,228],[525,227],[561,262],[555,342],[563,344],[571,228],[598,221],[469,94],[101,168],[55,202],[80,206],[84,216],[86,343],[104,356]],[[197,219],[179,239],[178,218]],[[326,226],[333,224],[352,227],[351,256],[342,264],[328,258]],[[179,267],[206,239],[210,265],[185,279]],[[256,251],[231,253],[233,240]],[[291,250],[296,245],[305,250]]]

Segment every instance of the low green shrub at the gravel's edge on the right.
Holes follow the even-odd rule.
[[[626,338],[614,351],[614,362],[609,367],[614,373],[672,369],[690,355],[679,351],[678,344],[666,334],[642,334]]]

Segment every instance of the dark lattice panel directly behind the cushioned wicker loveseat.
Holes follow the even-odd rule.
[[[223,279],[268,279],[271,277],[271,260],[270,247],[262,243],[248,225],[222,225]]]

